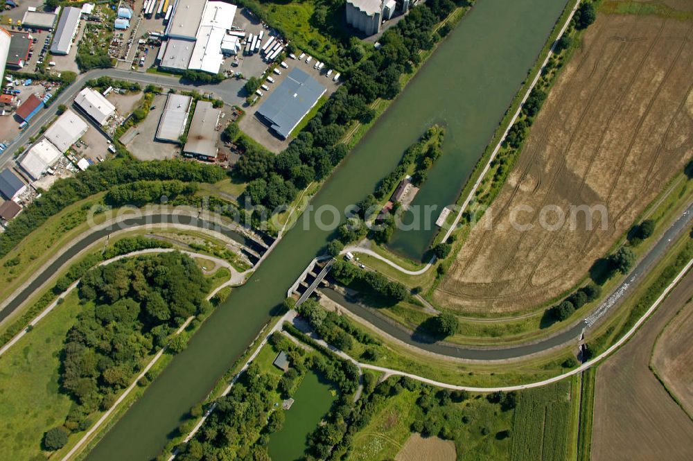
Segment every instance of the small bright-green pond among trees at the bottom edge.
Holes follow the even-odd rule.
[[[308,373],[294,395],[294,404],[285,413],[283,428],[270,436],[272,461],[299,460],[306,451],[306,437],[332,405],[331,386],[315,373]]]

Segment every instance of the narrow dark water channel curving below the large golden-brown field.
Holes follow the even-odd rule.
[[[412,332],[408,329],[404,329],[401,325],[394,324],[393,322],[387,320],[383,315],[378,314],[376,308],[371,308],[360,304],[360,302],[355,299],[349,299],[344,297],[341,293],[337,293],[334,290],[322,290],[330,299],[341,304],[345,308],[349,309],[352,313],[360,316],[361,318],[367,320],[373,324],[378,329],[385,331],[390,336],[406,342],[409,345],[418,347],[426,351],[433,352],[435,354],[441,354],[444,356],[456,357],[456,358],[466,358],[469,360],[507,360],[509,358],[520,358],[523,356],[528,356],[530,354],[536,354],[538,352],[546,351],[552,349],[553,347],[559,347],[570,342],[574,342],[577,346],[579,338],[581,338],[584,331],[593,328],[599,321],[604,318],[604,315],[608,313],[611,309],[618,306],[629,291],[632,291],[635,286],[638,286],[644,275],[651,270],[655,263],[657,263],[662,256],[667,252],[672,242],[676,240],[678,236],[685,232],[689,232],[690,224],[693,219],[693,203],[688,206],[688,208],[679,216],[674,224],[672,224],[669,229],[667,229],[659,241],[651,248],[645,256],[640,259],[638,264],[631,270],[628,277],[622,281],[622,283],[605,298],[604,303],[595,310],[588,318],[580,320],[572,324],[570,327],[563,329],[559,333],[556,333],[550,338],[545,338],[538,342],[532,342],[525,345],[513,346],[513,347],[486,347],[486,348],[474,348],[465,347],[461,345],[455,345],[450,342],[432,342],[426,336],[422,336],[416,332]]]

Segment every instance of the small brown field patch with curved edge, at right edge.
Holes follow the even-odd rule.
[[[657,340],[651,366],[678,399],[689,415],[693,415],[693,303],[689,302],[676,315]]]

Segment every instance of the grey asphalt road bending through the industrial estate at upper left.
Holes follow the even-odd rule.
[[[222,99],[228,105],[241,105],[245,103],[245,96],[240,96],[243,94],[244,80],[229,78],[218,85],[190,85],[182,83],[177,77],[165,76],[157,73],[123,71],[119,69],[94,69],[80,74],[72,85],[67,87],[64,92],[55,98],[50,107],[35,116],[26,130],[21,132],[19,137],[17,137],[3,153],[0,153],[0,169],[7,166],[8,162],[12,160],[19,146],[24,146],[28,143],[30,137],[39,134],[41,127],[46,125],[46,123],[56,115],[59,105],[71,105],[75,96],[77,96],[82,90],[82,87],[85,86],[87,80],[103,76],[111,77],[116,80],[130,80],[132,82],[138,82],[140,85],[149,85],[151,83],[166,88],[185,89],[187,91],[197,90],[200,93],[212,93],[216,98]]]

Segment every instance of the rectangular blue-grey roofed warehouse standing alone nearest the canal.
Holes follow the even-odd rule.
[[[301,69],[292,69],[255,113],[286,139],[327,89]]]

